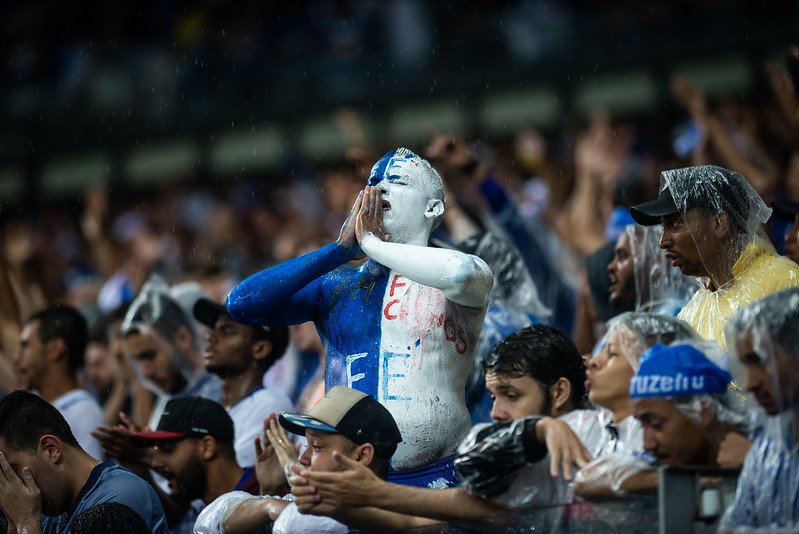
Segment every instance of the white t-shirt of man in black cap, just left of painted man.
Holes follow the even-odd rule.
[[[236,434],[234,448],[236,460],[242,467],[255,465],[255,436],[264,430],[264,419],[270,412],[293,412],[294,405],[288,397],[264,388],[258,388],[228,410]]]

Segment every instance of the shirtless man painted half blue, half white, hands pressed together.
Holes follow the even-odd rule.
[[[242,323],[313,320],[327,341],[326,389],[373,395],[397,420],[389,480],[429,487],[458,483],[464,387],[493,283],[476,256],[427,246],[443,213],[438,173],[407,149],[389,152],[335,243],[251,276],[227,300]],[[345,265],[361,253],[369,260]]]

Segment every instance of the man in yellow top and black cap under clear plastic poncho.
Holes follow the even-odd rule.
[[[799,267],[779,256],[761,225],[771,209],[733,171],[715,165],[661,173],[658,200],[631,210],[643,224],[676,206],[682,221],[665,228],[666,257],[701,287],[680,312],[705,339],[726,348],[724,325],[735,312],[779,289],[799,285]]]

